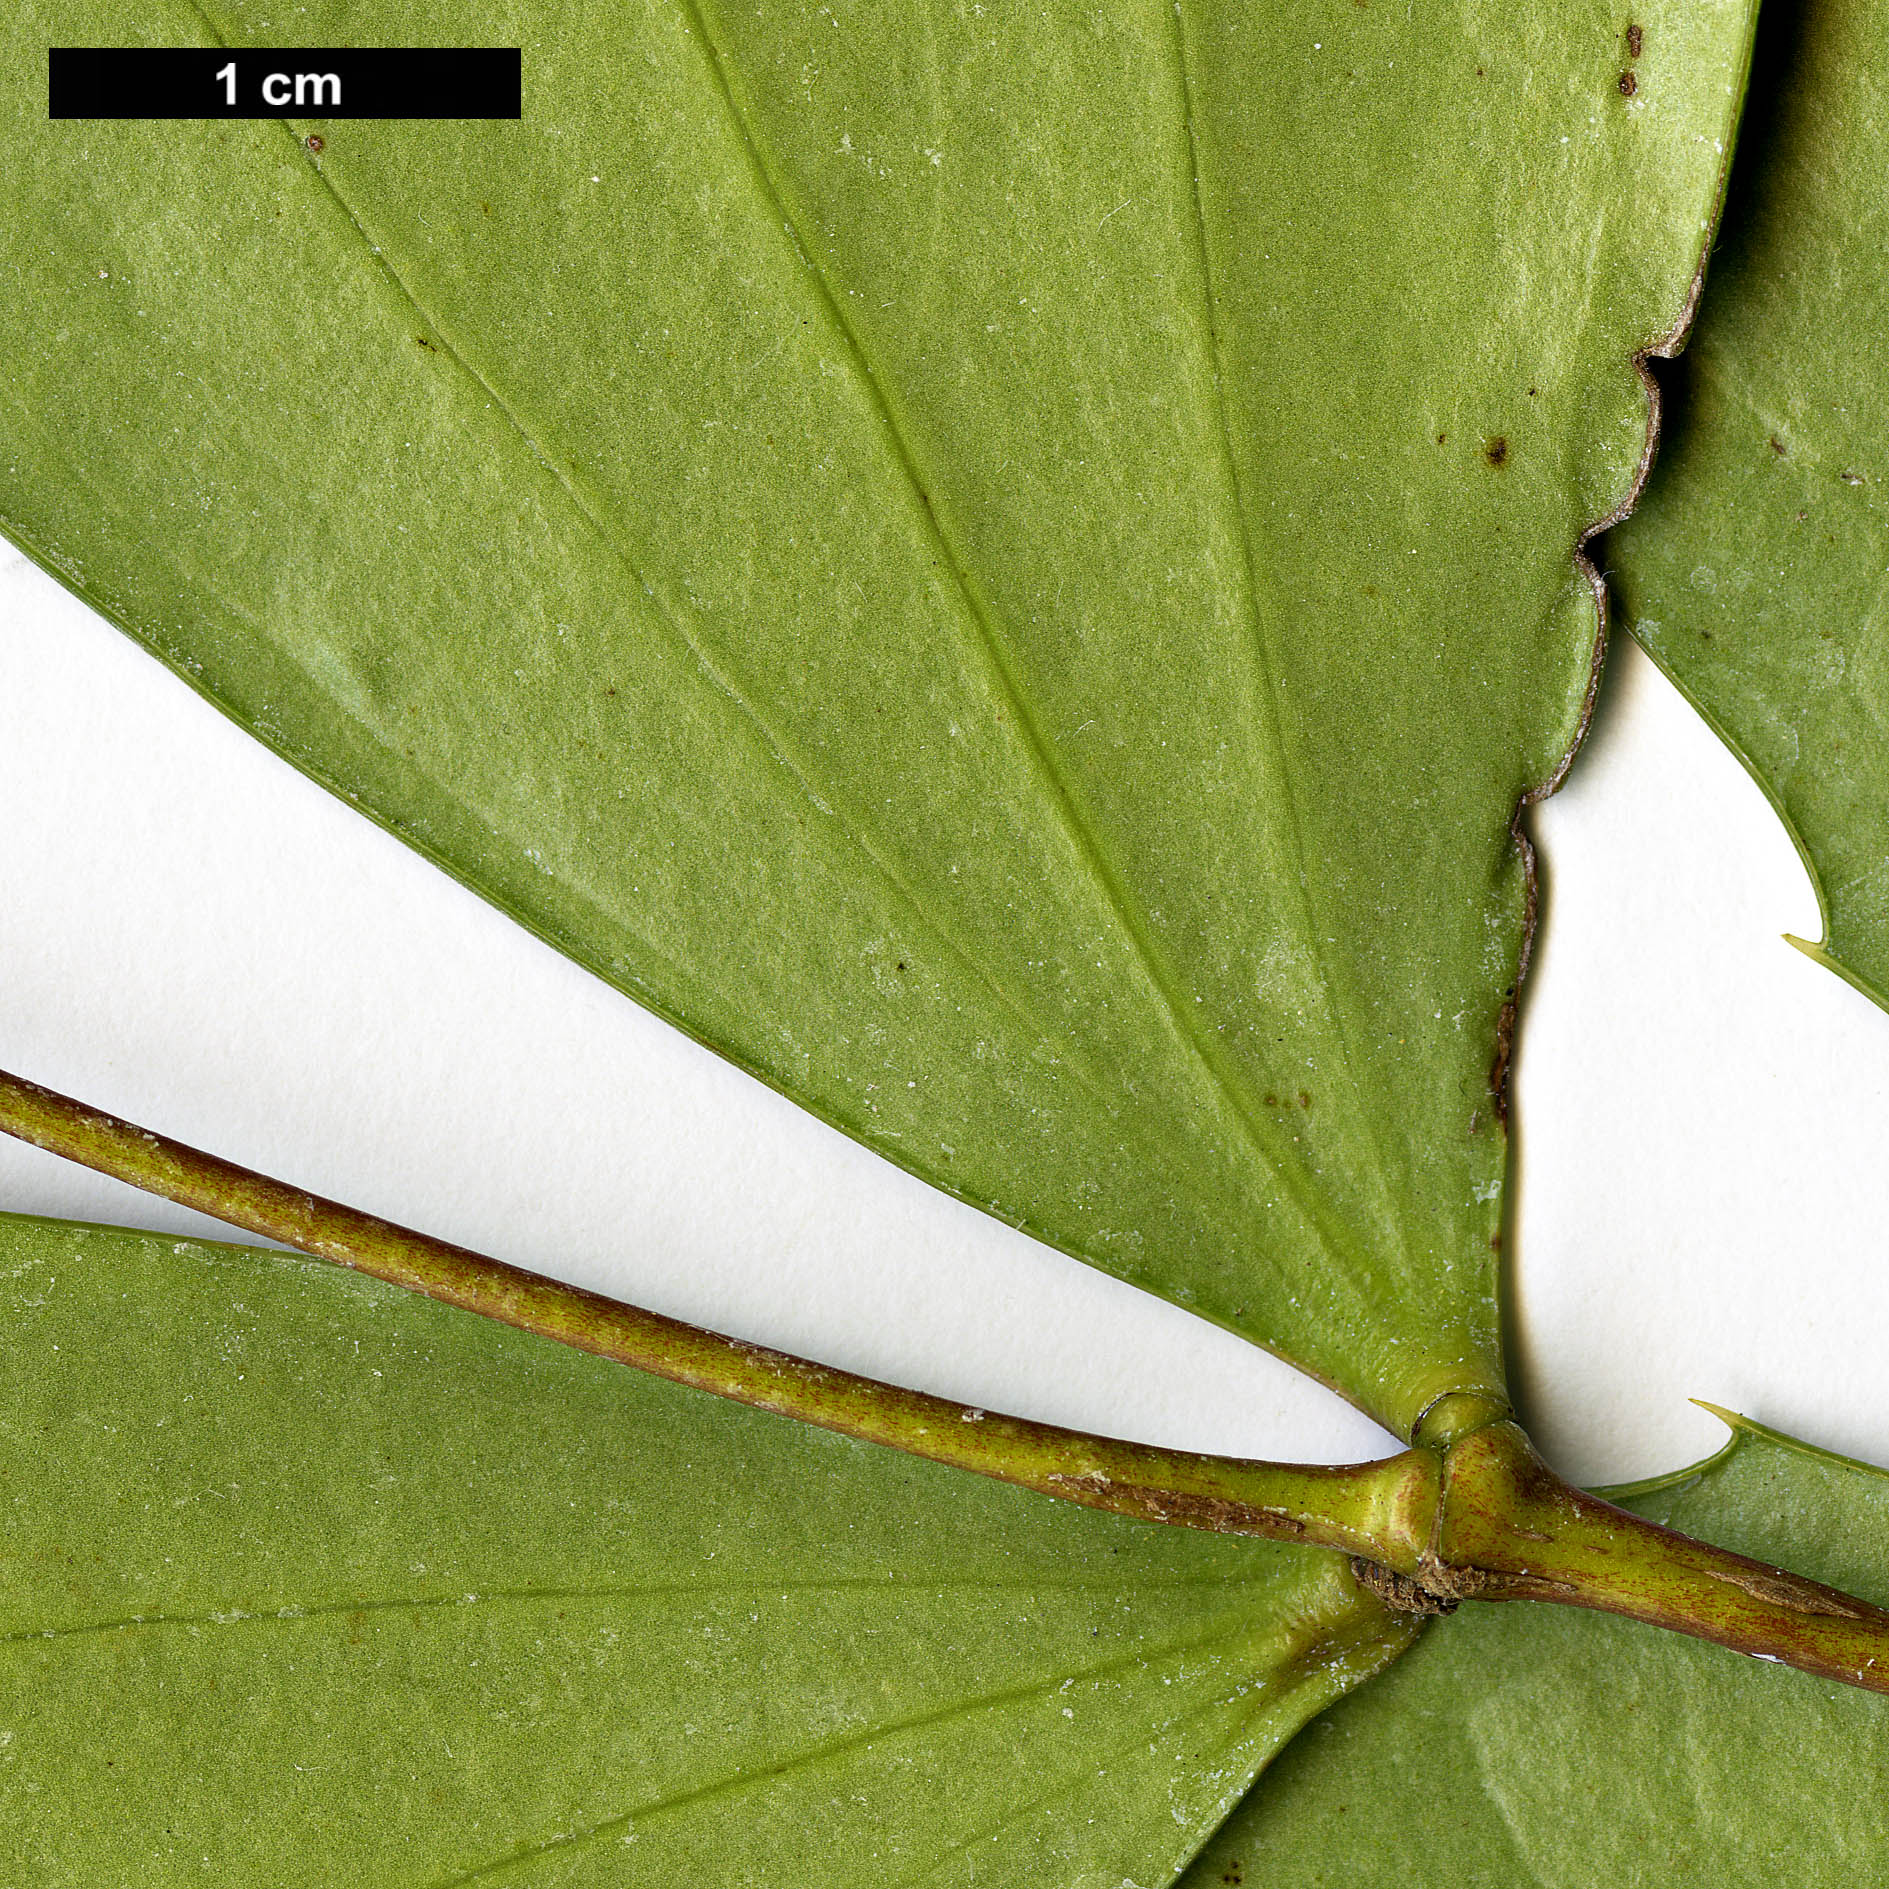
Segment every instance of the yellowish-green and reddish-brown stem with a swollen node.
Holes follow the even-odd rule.
[[[1507,1409],[1436,1400],[1413,1447],[1249,1462],[969,1409],[769,1351],[306,1194],[0,1071],[0,1130],[230,1226],[756,1409],[1137,1521],[1339,1549],[1409,1611],[1549,1600],[1889,1693],[1889,1613],[1564,1483]]]

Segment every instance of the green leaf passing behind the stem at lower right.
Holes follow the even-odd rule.
[[[1615,1500],[1889,1600],[1889,1472],[1738,1421]],[[1574,1608],[1464,1608],[1339,1706],[1183,1878],[1345,1889],[1778,1881],[1883,1853],[1889,1700]]]

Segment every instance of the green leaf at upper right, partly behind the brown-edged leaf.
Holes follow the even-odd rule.
[[[1764,40],[1674,436],[1608,550],[1634,637],[1796,839],[1804,948],[1889,1005],[1889,17],[1793,8]]]

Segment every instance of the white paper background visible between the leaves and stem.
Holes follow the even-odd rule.
[[[933,1194],[527,937],[0,548],[0,1064],[542,1271],[994,1409],[1349,1460],[1264,1353]],[[1583,1481],[1711,1398],[1889,1460],[1889,1016],[1759,791],[1617,642],[1541,808],[1515,1330]],[[232,1237],[0,1143],[0,1205]]]

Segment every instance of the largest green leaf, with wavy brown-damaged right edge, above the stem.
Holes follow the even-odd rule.
[[[47,125],[0,521],[952,1192],[1407,1434],[1500,1392],[1517,801],[1749,0],[538,9],[518,125]]]

